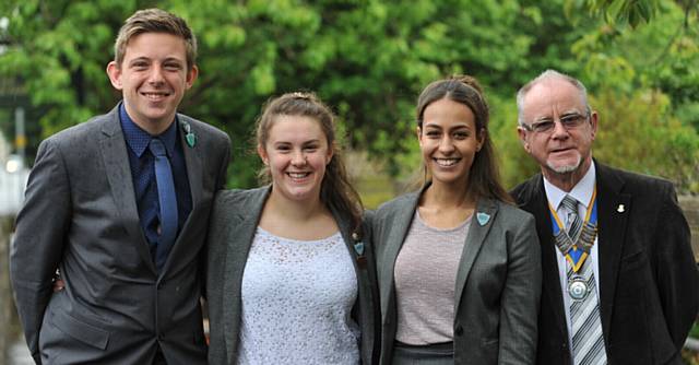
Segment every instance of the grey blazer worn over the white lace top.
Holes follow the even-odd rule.
[[[240,332],[242,273],[254,232],[260,222],[271,187],[252,190],[226,190],[216,195],[209,235],[209,266],[206,275],[211,342],[209,364],[235,364]],[[358,297],[353,318],[359,323],[363,364],[378,361],[379,320],[376,268],[369,227],[364,225],[357,239],[353,238],[350,221],[330,208],[347,250],[354,258]],[[354,248],[364,243],[364,254]]]

